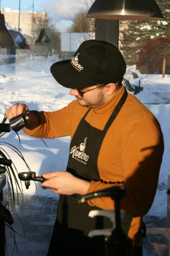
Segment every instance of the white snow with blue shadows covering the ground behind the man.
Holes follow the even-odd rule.
[[[0,121],[3,119],[5,108],[9,108],[16,102],[27,104],[30,110],[54,111],[65,107],[74,99],[69,95],[69,89],[59,85],[50,73],[50,66],[58,60],[56,55],[48,58],[34,57],[34,60],[29,57],[19,64],[0,66]],[[132,71],[137,73],[139,78],[133,79]],[[160,74],[140,74],[135,70],[135,66],[127,68],[126,78],[133,87],[138,86],[140,80],[143,90],[136,97],[158,118],[164,134],[165,153],[160,170],[158,190],[148,214],[166,217],[170,153],[170,78],[168,75],[162,78]],[[18,134],[21,146],[18,136],[13,130],[1,138],[1,144],[3,141],[17,147],[22,152],[31,171],[36,172],[36,176],[41,176],[44,172],[66,170],[69,136],[42,141],[25,135],[22,130]],[[3,147],[9,152],[18,172],[28,171],[27,166],[14,151]],[[34,182],[31,181],[28,190],[25,189],[24,182],[21,183],[24,194],[37,195],[38,192],[40,196],[57,196],[53,191],[41,189],[39,182],[36,182],[37,191]],[[7,186],[4,189],[7,189]]]

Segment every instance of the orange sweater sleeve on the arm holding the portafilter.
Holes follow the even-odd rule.
[[[121,200],[121,209],[129,214],[145,215],[155,196],[164,152],[164,140],[159,123],[142,120],[125,129],[121,136],[120,148],[123,175],[121,181],[124,184],[112,183],[112,179],[108,183],[92,180],[88,193],[113,185],[125,185],[126,196]],[[114,203],[109,197],[90,199],[88,203],[103,209],[114,208]]]

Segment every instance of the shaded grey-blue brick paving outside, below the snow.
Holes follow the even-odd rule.
[[[8,193],[4,192],[4,200],[6,199],[8,199]],[[13,215],[14,224],[12,224],[12,227],[18,233],[15,235],[18,254],[16,247],[14,248],[14,239],[6,230],[8,249],[6,256],[47,256],[56,211],[56,198],[24,195],[22,207],[22,198],[20,196],[19,204],[16,204],[15,210],[17,215]],[[22,223],[18,220],[18,217],[21,218]],[[166,225],[165,218],[145,216],[144,220],[147,228],[165,227]],[[143,256],[156,255],[152,247],[152,242],[166,243],[163,236],[155,234],[147,235],[143,240]],[[13,249],[14,252],[12,253]]]

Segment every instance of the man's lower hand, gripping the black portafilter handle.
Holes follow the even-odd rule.
[[[79,179],[66,171],[44,173],[46,180],[41,184],[43,189],[51,189],[60,195],[86,195],[90,182]]]

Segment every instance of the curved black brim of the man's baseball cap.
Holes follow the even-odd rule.
[[[95,83],[91,83],[90,81],[83,80],[79,76],[77,76],[77,71],[75,72],[75,68],[71,65],[71,60],[62,60],[54,63],[50,67],[51,74],[55,78],[55,80],[66,88],[86,88],[91,85],[95,85]]]

